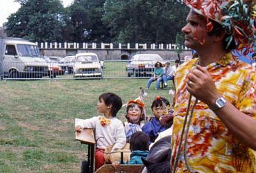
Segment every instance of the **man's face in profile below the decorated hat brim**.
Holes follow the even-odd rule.
[[[185,46],[197,50],[206,43],[209,36],[205,34],[205,25],[205,18],[190,10],[187,15],[187,25],[182,28],[182,33],[185,34]],[[203,40],[205,42],[202,44]]]

